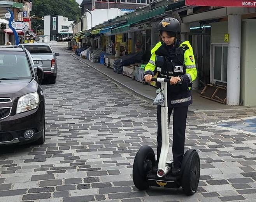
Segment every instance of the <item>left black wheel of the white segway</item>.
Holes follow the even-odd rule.
[[[132,169],[133,183],[139,190],[146,190],[147,173],[153,168],[156,161],[154,151],[151,147],[144,145],[137,152]]]

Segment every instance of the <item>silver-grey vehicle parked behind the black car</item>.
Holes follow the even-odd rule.
[[[44,70],[44,78],[49,83],[56,83],[57,59],[59,53],[54,53],[51,46],[47,43],[24,43],[23,45],[32,55],[35,66],[41,66]]]

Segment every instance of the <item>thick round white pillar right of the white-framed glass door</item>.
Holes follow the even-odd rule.
[[[227,105],[240,104],[241,15],[228,16]]]

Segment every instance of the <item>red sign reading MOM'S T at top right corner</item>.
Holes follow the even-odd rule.
[[[186,5],[219,7],[256,7],[256,0],[186,0]]]

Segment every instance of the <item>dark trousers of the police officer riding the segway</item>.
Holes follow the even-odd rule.
[[[182,158],[184,155],[186,119],[188,115],[188,106],[185,107],[168,107],[168,117],[170,126],[170,116],[174,111],[173,119],[173,141],[172,154],[174,158],[174,167],[181,167]],[[160,159],[162,147],[162,129],[161,129],[161,106],[157,107],[157,161]]]

